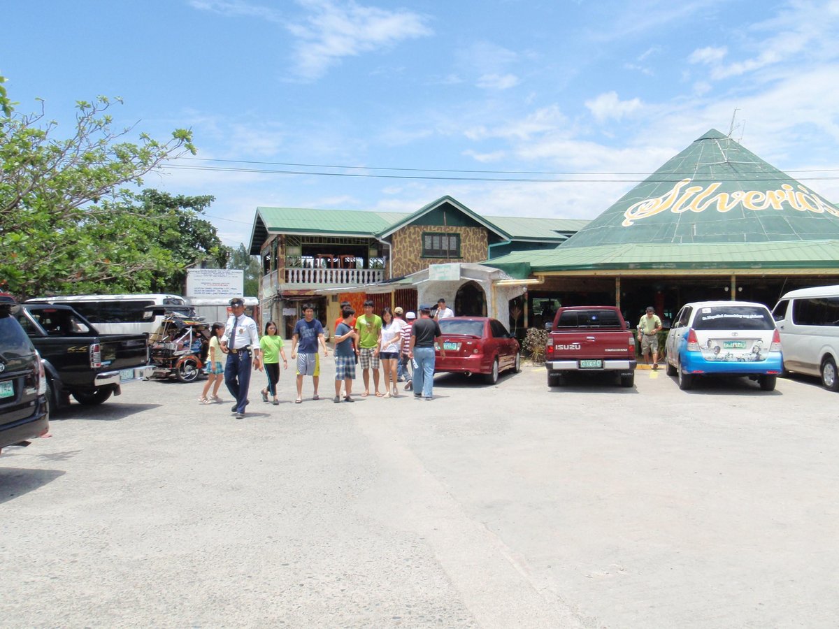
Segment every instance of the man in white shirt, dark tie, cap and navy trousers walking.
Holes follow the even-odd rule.
[[[259,361],[259,332],[257,322],[245,314],[245,300],[234,297],[230,300],[231,315],[221,335],[221,351],[227,352],[224,367],[224,383],[227,391],[236,398],[231,408],[236,418],[245,416],[248,406],[248,387],[251,384],[251,359],[253,366],[262,369]]]

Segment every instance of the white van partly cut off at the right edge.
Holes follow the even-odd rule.
[[[772,310],[784,346],[784,370],[821,377],[839,391],[839,286],[791,290]]]

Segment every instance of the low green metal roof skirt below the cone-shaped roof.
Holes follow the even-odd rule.
[[[689,244],[628,243],[513,252],[485,262],[510,273],[620,269],[839,268],[839,240]],[[524,265],[524,266],[523,266]],[[526,266],[526,268],[524,268]]]

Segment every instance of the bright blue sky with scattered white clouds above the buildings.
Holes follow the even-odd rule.
[[[839,1],[5,0],[0,75],[198,153],[145,187],[259,205],[593,219],[710,128],[839,201]]]

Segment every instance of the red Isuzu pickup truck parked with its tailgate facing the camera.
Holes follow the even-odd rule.
[[[635,382],[635,335],[615,306],[571,306],[556,311],[545,347],[548,386],[567,372],[615,372],[622,387]]]

